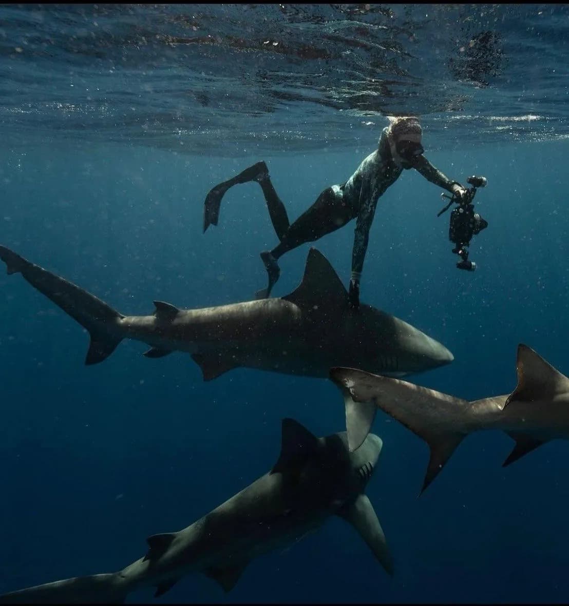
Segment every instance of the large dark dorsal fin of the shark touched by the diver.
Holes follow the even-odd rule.
[[[301,308],[340,307],[347,305],[348,293],[328,259],[316,248],[311,248],[302,282],[283,299]]]

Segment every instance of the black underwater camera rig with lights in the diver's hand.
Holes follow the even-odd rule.
[[[442,193],[442,198],[448,198],[449,203],[440,210],[437,217],[440,217],[447,211],[453,203],[458,204],[457,208],[451,212],[451,221],[448,229],[448,239],[453,242],[455,247],[453,253],[459,255],[460,261],[456,264],[459,269],[466,271],[476,270],[476,263],[468,261],[468,247],[472,236],[480,233],[488,227],[488,221],[485,221],[478,213],[474,212],[474,196],[476,196],[477,187],[486,187],[488,181],[486,177],[471,176],[466,179],[466,182],[472,187],[466,190],[463,196],[453,194],[449,196]]]

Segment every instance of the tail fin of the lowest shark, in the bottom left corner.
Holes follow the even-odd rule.
[[[123,604],[128,589],[115,573],[78,576],[0,595],[0,604]]]

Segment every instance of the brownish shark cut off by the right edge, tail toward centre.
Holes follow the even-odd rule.
[[[431,456],[422,490],[473,431],[503,430],[516,441],[503,467],[551,439],[569,439],[569,379],[524,344],[516,389],[472,402],[354,368],[332,368],[330,377],[344,396],[349,448],[362,444],[377,408],[425,440]]]

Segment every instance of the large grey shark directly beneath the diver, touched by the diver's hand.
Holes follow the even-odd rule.
[[[155,301],[150,316],[124,316],[75,284],[0,246],[8,274],[33,287],[90,333],[86,364],[109,356],[122,339],[150,345],[161,358],[186,351],[205,381],[236,367],[327,378],[332,366],[402,376],[453,361],[438,341],[369,305],[349,310],[348,295],[328,260],[312,248],[303,280],[283,298],[180,310]]]

